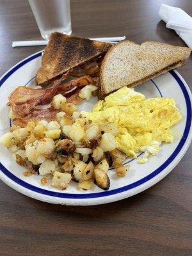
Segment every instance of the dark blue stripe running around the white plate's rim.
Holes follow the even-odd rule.
[[[32,56],[29,56],[29,58],[26,58],[24,61],[21,61],[19,64],[15,65],[15,67],[13,67],[9,72],[7,72],[1,78],[0,87],[2,86],[4,81],[6,81],[6,79],[8,79],[8,77],[12,76],[12,74],[16,70],[18,70],[20,67],[22,67],[23,65],[25,65],[29,61],[32,61],[35,58],[40,57],[41,55],[42,55],[42,52],[37,52],[36,54],[34,54]],[[180,150],[182,149],[182,147],[184,146],[184,143],[186,142],[186,140],[188,138],[189,131],[190,131],[190,128],[191,128],[191,100],[189,98],[188,91],[186,90],[186,87],[184,86],[184,83],[181,81],[180,77],[173,70],[170,71],[170,74],[177,81],[177,84],[180,86],[180,89],[182,90],[182,93],[183,93],[184,98],[186,100],[186,109],[187,109],[186,126],[185,126],[185,129],[184,129],[183,136],[182,136],[179,144],[177,145],[177,148],[175,148],[174,152],[172,153],[172,155],[170,157],[168,157],[168,159],[166,159],[166,161],[161,166],[159,166],[159,168],[157,168],[154,172],[150,173],[149,175],[147,175],[143,179],[140,179],[140,180],[138,180],[136,182],[133,182],[132,184],[129,184],[129,185],[124,186],[122,188],[112,189],[112,190],[109,190],[109,191],[103,191],[103,192],[98,192],[98,193],[88,193],[88,194],[71,194],[71,193],[60,193],[60,192],[49,191],[47,189],[37,188],[37,187],[35,187],[31,184],[28,184],[24,180],[19,179],[15,175],[13,175],[13,173],[8,171],[3,166],[3,164],[0,163],[1,172],[3,172],[4,175],[6,175],[8,178],[10,178],[13,182],[19,184],[20,186],[22,186],[26,189],[29,189],[31,191],[35,191],[36,193],[40,193],[40,194],[43,194],[43,195],[54,196],[54,197],[58,197],[58,198],[74,198],[74,199],[100,198],[100,197],[104,197],[104,196],[109,196],[109,195],[115,195],[115,194],[118,194],[118,193],[122,193],[124,191],[129,190],[129,189],[136,188],[136,187],[140,186],[141,184],[144,184],[145,182],[148,182],[148,180],[151,180],[152,178],[156,177],[156,175],[163,172],[164,168],[166,168],[170,163],[172,163],[172,161],[175,159],[175,157],[177,157],[177,155],[179,154]],[[154,81],[152,81],[152,83],[154,83]],[[154,85],[156,86],[155,83],[154,83]],[[157,90],[159,91],[159,88],[157,88]],[[161,95],[160,91],[159,91],[159,93]],[[161,97],[162,97],[162,95],[161,95]]]

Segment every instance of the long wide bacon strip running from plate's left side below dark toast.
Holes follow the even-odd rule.
[[[36,106],[49,104],[54,95],[58,93],[66,93],[73,88],[83,87],[92,84],[92,78],[88,76],[73,79],[67,84],[60,86],[52,86],[45,89],[31,89],[24,86],[17,87],[9,96],[8,106],[16,115],[29,115],[31,110]]]

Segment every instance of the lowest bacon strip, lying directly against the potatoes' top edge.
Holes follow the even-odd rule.
[[[28,116],[20,117],[13,120],[13,124],[20,127],[25,127],[31,120],[56,120],[56,114],[60,112],[58,109],[52,107],[46,109],[32,109]]]

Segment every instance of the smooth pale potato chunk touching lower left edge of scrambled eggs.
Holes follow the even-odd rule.
[[[102,148],[104,152],[112,151],[116,148],[115,137],[111,133],[102,134],[99,147]]]

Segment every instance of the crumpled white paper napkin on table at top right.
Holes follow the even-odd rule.
[[[166,28],[174,29],[177,35],[192,47],[192,18],[182,9],[161,4],[159,16],[166,22]]]

